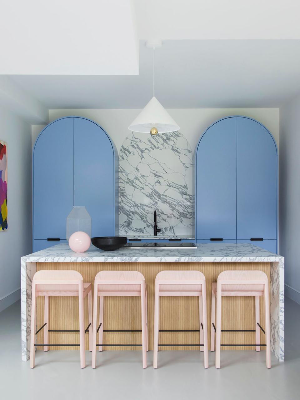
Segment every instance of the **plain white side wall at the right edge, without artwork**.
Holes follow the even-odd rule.
[[[300,96],[280,108],[279,252],[285,292],[300,304]]]

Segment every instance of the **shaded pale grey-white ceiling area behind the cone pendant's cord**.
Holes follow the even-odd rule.
[[[100,52],[100,50],[99,50]],[[278,107],[300,92],[300,40],[164,40],[156,97],[166,108]],[[142,108],[152,97],[152,50],[139,75],[14,75],[47,108]]]

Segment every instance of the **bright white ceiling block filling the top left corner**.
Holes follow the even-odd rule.
[[[0,0],[0,74],[138,74],[131,0]]]

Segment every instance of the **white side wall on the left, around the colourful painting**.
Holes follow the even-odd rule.
[[[0,108],[7,142],[8,230],[0,232],[0,311],[20,298],[20,257],[32,252],[31,126]]]

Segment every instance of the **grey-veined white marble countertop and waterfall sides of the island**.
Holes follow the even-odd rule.
[[[104,252],[91,246],[74,253],[68,244],[58,244],[21,258],[22,360],[29,358],[31,284],[36,262],[270,262],[271,348],[284,361],[284,258],[253,244],[197,244],[196,249],[120,248]]]

